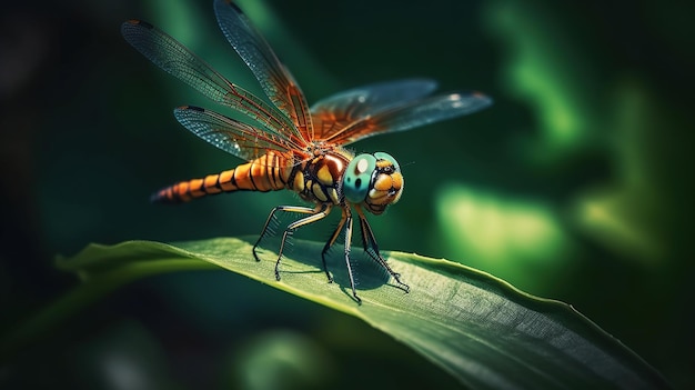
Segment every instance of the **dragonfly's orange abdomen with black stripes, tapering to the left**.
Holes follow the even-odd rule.
[[[153,193],[150,200],[157,203],[179,203],[222,192],[278,191],[288,188],[292,171],[292,163],[284,156],[270,151],[234,169],[163,188]]]

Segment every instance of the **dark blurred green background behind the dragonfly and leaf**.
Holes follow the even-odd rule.
[[[693,386],[693,4],[239,3],[310,102],[409,77],[495,99],[471,117],[352,146],[387,151],[403,167],[402,200],[371,219],[383,249],[459,261],[568,302],[674,387]],[[178,124],[177,106],[220,108],[123,41],[120,23],[131,18],[261,93],[211,1],[3,6],[0,330],[74,286],[53,270],[57,253],[256,234],[273,206],[299,202],[278,192],[149,204],[162,186],[240,161]],[[321,241],[330,226],[296,237]],[[355,319],[210,271],[128,286],[0,366],[0,388],[49,384],[456,383]]]

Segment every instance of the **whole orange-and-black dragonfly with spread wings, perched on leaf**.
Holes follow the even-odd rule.
[[[180,203],[234,191],[294,191],[311,207],[273,208],[252,249],[254,259],[260,261],[259,248],[274,234],[272,226],[279,216],[295,216],[282,231],[274,269],[276,280],[288,239],[298,229],[321,221],[338,209],[341,219],[321,254],[329,282],[333,282],[333,277],[326,254],[342,234],[352,297],[362,302],[350,258],[356,221],[364,252],[389,272],[397,288],[409,292],[410,287],[381,254],[366,219],[367,213],[382,214],[401,198],[404,187],[401,166],[386,152],[357,154],[345,147],[367,137],[469,114],[488,107],[492,99],[480,92],[432,94],[436,82],[405,79],[354,88],[310,108],[294,77],[250,18],[233,1],[214,0],[213,8],[224,37],[255,76],[268,100],[232,83],[154,26],[142,20],[129,20],[121,26],[124,39],[154,64],[248,118],[240,121],[193,106],[174,109],[174,117],[184,128],[246,162],[220,173],[177,182],[155,192],[151,200]]]

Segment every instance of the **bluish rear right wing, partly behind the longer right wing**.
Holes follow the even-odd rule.
[[[330,138],[359,119],[425,97],[436,89],[427,79],[407,79],[354,88],[322,99],[311,107],[314,137]]]

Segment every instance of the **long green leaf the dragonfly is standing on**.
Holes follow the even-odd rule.
[[[273,253],[261,251],[256,262],[250,242],[225,238],[172,246],[91,244],[58,264],[78,273],[85,288],[93,287],[83,293],[89,297],[94,288],[107,292],[151,273],[222,267],[357,317],[471,388],[668,388],[652,367],[572,307],[528,296],[459,263],[385,252],[411,287],[405,293],[361,259],[357,293],[363,303],[357,304],[338,253],[329,262],[335,282],[326,282],[320,268],[322,243],[296,240],[283,257],[282,279],[275,281]]]

